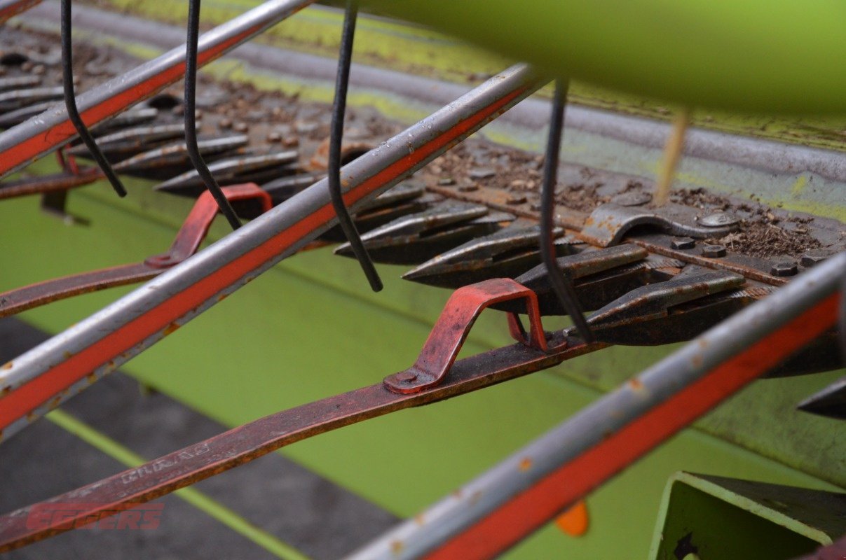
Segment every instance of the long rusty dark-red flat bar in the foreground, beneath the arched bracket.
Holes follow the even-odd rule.
[[[603,347],[566,340],[561,333],[553,336],[551,343],[556,350],[549,353],[517,344],[465,358],[453,365],[443,383],[414,394],[394,393],[376,383],[283,410],[46,502],[20,508],[0,517],[0,552],[94,522],[117,513],[126,504],[162,497],[290,443],[396,410],[483,389]],[[32,523],[30,514],[50,503],[74,503],[80,508],[73,519]]]

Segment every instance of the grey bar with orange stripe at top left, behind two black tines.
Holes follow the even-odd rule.
[[[200,37],[198,65],[211,62],[244,41],[305,8],[315,0],[269,0]],[[88,126],[154,95],[184,74],[185,46],[178,46],[138,68],[77,97]],[[68,111],[56,107],[0,134],[0,178],[76,137]]]

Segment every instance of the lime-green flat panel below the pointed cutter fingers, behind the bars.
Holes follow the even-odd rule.
[[[140,260],[168,247],[179,216],[187,213],[190,203],[150,193],[141,183],[130,184],[130,189],[124,200],[102,184],[73,193],[69,209],[90,218],[88,227],[64,226],[41,214],[36,198],[3,201],[0,290]],[[221,235],[225,225],[218,224],[213,231]],[[374,295],[366,290],[354,261],[333,257],[327,249],[298,255],[144,352],[125,369],[227,425],[376,383],[414,361],[448,296],[447,291],[398,280],[399,272],[382,267],[386,289]],[[57,332],[128,290],[58,302],[25,313],[25,318]],[[465,352],[500,344],[506,340],[505,331],[496,313],[483,316]],[[413,514],[563,421],[595,399],[600,389],[613,387],[666,351],[618,348],[584,356],[554,371],[345,427],[297,443],[285,453],[398,514]],[[783,394],[785,382],[761,382],[761,387],[763,383],[782,383],[775,393],[787,402],[821,381],[789,380],[795,387]],[[751,407],[759,415],[776,399],[770,395],[755,403],[759,398],[755,389],[750,394],[741,395],[738,406]],[[711,418],[738,417],[734,415],[739,412],[731,410],[720,410]],[[746,439],[741,443],[750,446],[755,442],[775,445],[767,437],[767,427],[778,438],[786,438],[777,432],[772,417],[761,420],[759,416],[761,427],[751,430],[745,421],[728,429],[709,419],[703,427],[722,437],[743,434]],[[783,423],[794,421],[799,420],[791,416],[790,422]],[[833,428],[818,429],[832,432],[833,437]],[[832,445],[830,453],[836,454],[836,447]],[[825,449],[821,446],[816,452]],[[829,459],[832,456],[842,465],[842,451]],[[565,552],[576,559],[612,554],[645,557],[662,488],[677,470],[832,488],[820,480],[819,472],[816,477],[805,475],[710,433],[689,430],[589,498],[592,524],[587,536],[573,539],[548,527],[508,557],[558,557]]]

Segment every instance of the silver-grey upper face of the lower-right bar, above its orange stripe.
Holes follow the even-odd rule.
[[[435,503],[347,560],[401,560],[432,552],[537,481],[618,432],[656,405],[706,376],[838,290],[846,253],[817,265],[772,296],[700,335],[680,351],[596,400],[541,438],[512,454],[458,492]],[[532,465],[530,470],[520,465]],[[421,523],[420,519],[425,519]],[[400,543],[401,546],[398,546]]]

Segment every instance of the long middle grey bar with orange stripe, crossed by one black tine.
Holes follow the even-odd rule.
[[[360,208],[409,177],[542,83],[526,65],[508,68],[350,162],[341,174],[344,196],[354,201],[349,204],[350,209]],[[173,332],[174,325],[188,322],[336,223],[324,179],[99,313],[8,362],[0,367],[0,395],[6,395],[0,398],[0,433],[8,437],[19,431],[52,406]],[[250,264],[233,270],[236,260],[249,260]],[[187,309],[187,313],[182,309]],[[141,337],[140,330],[149,334]],[[74,378],[74,383],[56,384],[58,379],[69,377]],[[19,390],[34,390],[26,383],[47,383],[48,378],[57,379],[50,382],[55,398],[44,394],[45,402],[35,410],[25,410],[23,414],[9,411],[16,402],[22,402]],[[58,387],[69,390],[60,393]]]

